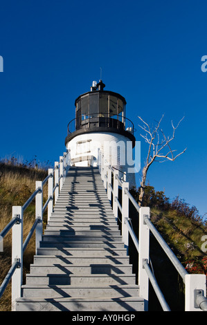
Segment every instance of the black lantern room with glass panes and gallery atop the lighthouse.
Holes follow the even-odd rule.
[[[107,131],[123,134],[133,142],[134,124],[125,117],[125,98],[105,91],[102,80],[75,100],[75,118],[69,122],[66,142],[81,133]]]

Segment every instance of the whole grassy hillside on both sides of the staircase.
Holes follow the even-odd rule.
[[[37,164],[17,163],[17,160],[0,162],[0,232],[12,217],[12,205],[23,205],[35,190],[35,180],[44,180],[46,169]],[[46,185],[45,185],[46,187]],[[138,190],[133,189],[132,195],[138,199]],[[44,188],[44,202],[47,199],[47,189]],[[151,221],[161,232],[165,241],[177,255],[188,272],[207,274],[206,252],[202,250],[203,236],[207,234],[206,222],[199,216],[196,207],[190,207],[179,198],[170,202],[163,192],[156,192],[154,187],[147,186],[145,206],[151,208]],[[134,206],[129,207],[134,231],[138,234],[138,215]],[[35,221],[35,200],[24,213],[24,239]],[[46,221],[46,215],[44,216]],[[24,252],[24,276],[29,272],[35,254],[35,236],[31,239]],[[129,239],[131,241],[131,239]],[[159,244],[150,236],[150,258],[154,275],[161,286],[168,304],[172,310],[183,309],[183,284],[172,263],[165,256]],[[206,244],[207,248],[207,244]],[[130,262],[134,272],[137,272],[137,253],[132,241],[129,250]],[[3,252],[0,252],[0,283],[2,283],[11,266],[11,230],[3,242]],[[10,290],[8,286],[0,301],[0,311],[10,310]],[[150,310],[159,310],[154,291],[150,287]]]

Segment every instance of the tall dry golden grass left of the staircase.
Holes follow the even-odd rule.
[[[0,232],[12,218],[12,205],[24,205],[35,190],[35,180],[44,180],[47,172],[40,169],[31,169],[6,164],[0,164]],[[44,185],[44,202],[47,199],[47,188]],[[35,200],[24,212],[24,240],[35,221]],[[12,230],[3,239],[3,252],[0,253],[0,282],[6,277],[11,266],[11,236]],[[24,281],[33,263],[35,254],[35,234],[30,239],[24,252]],[[10,281],[11,282],[11,281]],[[8,284],[0,301],[0,311],[11,310],[11,283]]]

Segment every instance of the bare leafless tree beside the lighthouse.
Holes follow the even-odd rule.
[[[156,122],[156,126],[151,128],[149,124],[147,124],[140,116],[138,118],[143,122],[142,125],[138,125],[143,131],[145,131],[145,135],[141,134],[141,137],[147,142],[149,145],[148,151],[147,151],[147,158],[145,161],[145,166],[143,167],[142,170],[142,175],[141,175],[141,189],[140,189],[140,194],[138,197],[138,205],[141,206],[143,203],[143,196],[145,194],[145,183],[147,179],[147,171],[154,163],[154,161],[158,161],[159,163],[163,163],[166,160],[171,160],[174,161],[177,157],[181,156],[186,149],[184,149],[182,152],[179,154],[174,154],[175,151],[177,150],[172,150],[171,149],[171,142],[174,140],[175,137],[175,131],[179,127],[179,124],[183,120],[179,120],[178,124],[176,127],[174,127],[173,122],[171,121],[172,124],[172,136],[165,136],[165,133],[160,127],[161,121],[163,120],[163,116],[159,120],[159,122]]]

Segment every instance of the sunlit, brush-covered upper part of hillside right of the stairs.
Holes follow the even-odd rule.
[[[133,195],[137,198],[138,191]],[[170,202],[170,198],[163,192],[156,192],[152,186],[147,186],[144,205],[150,206],[152,223],[186,267],[190,260],[199,261],[206,257],[202,248],[207,222],[195,206],[190,207],[179,197]]]

